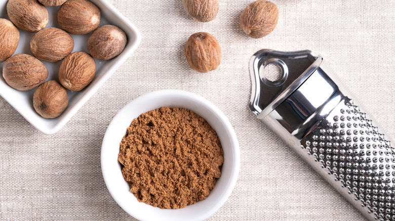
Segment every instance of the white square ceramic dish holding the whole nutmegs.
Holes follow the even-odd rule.
[[[106,0],[90,0],[95,4],[101,12],[100,26],[106,24],[115,25],[125,31],[127,36],[127,44],[125,49],[119,56],[107,60],[101,61],[95,59],[96,62],[96,75],[93,81],[81,91],[69,91],[67,90],[69,96],[69,103],[66,110],[57,118],[45,119],[39,116],[33,108],[33,93],[35,88],[28,91],[18,91],[10,87],[3,78],[3,64],[0,63],[0,95],[7,100],[31,125],[33,125],[37,130],[44,134],[54,134],[59,131],[70,119],[71,117],[80,109],[85,102],[99,89],[101,85],[118,69],[131,55],[131,53],[137,48],[141,41],[140,32],[137,28],[118,10],[114,8]],[[0,18],[9,19],[7,15],[7,0],[0,0]],[[48,27],[58,27],[57,22],[57,12],[60,7],[47,7],[50,20],[48,22]],[[99,27],[100,27],[99,26]],[[20,32],[19,44],[17,53],[27,53],[31,54],[29,42],[34,33],[29,33],[18,29]],[[71,35],[74,39],[74,51],[85,51],[88,52],[88,38],[91,33],[85,35]],[[43,62],[43,61],[42,61]],[[49,75],[48,80],[58,81],[58,70],[61,64],[60,62],[50,63],[43,62],[48,69]],[[59,81],[58,81],[59,82]]]

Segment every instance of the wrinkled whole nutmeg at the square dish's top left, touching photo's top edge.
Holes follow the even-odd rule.
[[[47,8],[37,0],[8,0],[7,14],[12,23],[28,32],[45,28],[49,21]]]

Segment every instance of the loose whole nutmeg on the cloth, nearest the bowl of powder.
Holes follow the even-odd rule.
[[[184,49],[188,65],[195,71],[206,73],[221,63],[221,47],[217,39],[206,32],[192,34]]]

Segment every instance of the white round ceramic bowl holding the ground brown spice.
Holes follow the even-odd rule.
[[[133,119],[163,106],[183,107],[200,115],[217,132],[224,152],[221,177],[210,195],[202,201],[181,209],[160,209],[137,201],[124,180],[117,157],[120,142]],[[112,119],[101,148],[103,178],[114,200],[139,220],[203,220],[214,214],[230,196],[240,170],[240,149],[236,134],[228,119],[205,98],[181,90],[154,91],[129,102]]]

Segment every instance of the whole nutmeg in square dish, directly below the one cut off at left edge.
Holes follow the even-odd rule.
[[[19,53],[6,60],[3,77],[7,84],[17,90],[31,90],[48,77],[48,70],[38,59]]]

